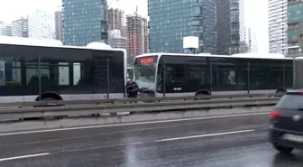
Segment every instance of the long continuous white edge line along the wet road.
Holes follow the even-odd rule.
[[[225,117],[259,116],[259,115],[267,115],[267,114],[268,114],[268,112],[253,113],[253,114],[226,115],[226,116],[193,117],[193,118],[182,118],[182,119],[161,120],[161,121],[148,121],[148,122],[139,122],[139,123],[125,123],[125,124],[116,124],[116,125],[91,125],[91,126],[82,126],[82,127],[68,127],[68,128],[56,128],[56,129],[46,129],[46,130],[34,130],[34,131],[5,133],[5,134],[0,134],[0,136],[26,135],[26,134],[36,134],[36,133],[46,133],[46,132],[92,129],[92,128],[101,128],[101,127],[115,127],[115,126],[124,126],[124,125],[146,125],[146,124],[159,124],[159,123],[174,123],[174,122],[182,122],[182,121],[206,120],[206,119],[225,118]]]

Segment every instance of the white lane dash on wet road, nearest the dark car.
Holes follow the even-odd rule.
[[[201,137],[216,136],[216,135],[242,134],[242,133],[253,132],[253,131],[255,131],[255,130],[254,129],[249,129],[249,130],[243,130],[243,131],[233,131],[233,132],[224,132],[224,133],[216,133],[216,134],[190,135],[190,136],[185,136],[185,137],[160,139],[160,140],[155,140],[155,142],[168,142],[168,141],[176,141],[176,140],[184,140],[184,139],[192,139],[192,138],[201,138]]]

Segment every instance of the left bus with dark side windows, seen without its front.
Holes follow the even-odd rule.
[[[0,36],[0,102],[124,98],[126,51]]]

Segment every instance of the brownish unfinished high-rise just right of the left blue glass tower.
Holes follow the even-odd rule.
[[[110,8],[107,11],[108,31],[120,30],[124,32],[124,11],[118,8]],[[126,34],[123,34],[123,36]]]

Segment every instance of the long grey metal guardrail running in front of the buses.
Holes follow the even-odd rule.
[[[259,97],[239,98],[236,97]],[[211,98],[211,99],[209,99]],[[218,99],[223,98],[223,99]],[[225,99],[226,98],[226,99]],[[182,99],[183,101],[179,101]],[[190,100],[192,99],[192,100]],[[195,100],[196,99],[196,100]],[[208,99],[208,100],[203,100]],[[177,100],[177,101],[171,101]],[[38,101],[19,103],[22,107],[0,109],[0,120],[45,116],[91,116],[119,112],[154,112],[218,107],[247,107],[274,105],[279,97],[271,95],[236,95],[204,97],[148,97],[106,100]],[[153,102],[151,102],[153,101]],[[159,102],[161,101],[161,102]],[[150,102],[150,103],[126,103]],[[12,103],[16,104],[16,103]],[[94,104],[94,105],[87,105]],[[4,104],[0,104],[3,106]],[[74,105],[61,107],[35,107],[47,105]],[[24,107],[25,106],[25,107]],[[31,107],[30,107],[31,106]]]

